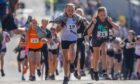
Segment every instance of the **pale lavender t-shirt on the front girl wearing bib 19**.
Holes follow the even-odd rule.
[[[56,22],[60,23],[63,27],[61,31],[61,40],[63,41],[77,41],[77,29],[78,23],[81,20],[81,16],[74,15],[69,18],[65,15],[61,15],[55,19]]]

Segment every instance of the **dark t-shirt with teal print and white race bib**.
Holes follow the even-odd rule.
[[[92,32],[93,39],[108,40],[109,29],[112,28],[112,25],[107,21],[107,18],[103,22],[99,19],[99,17],[97,17],[96,20],[97,23],[95,24]]]

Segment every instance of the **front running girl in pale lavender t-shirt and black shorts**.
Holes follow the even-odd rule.
[[[56,18],[58,23],[57,31],[61,31],[61,45],[63,51],[64,81],[67,84],[70,72],[74,72],[74,60],[76,56],[77,29],[81,17],[75,14],[75,5],[68,3],[65,6],[64,14]]]

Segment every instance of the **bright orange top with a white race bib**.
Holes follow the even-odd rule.
[[[27,32],[27,47],[29,49],[39,49],[43,46],[42,41],[39,40],[36,30],[29,28]]]

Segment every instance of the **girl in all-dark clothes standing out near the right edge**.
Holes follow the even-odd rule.
[[[125,74],[124,79],[131,79],[134,69],[134,52],[135,52],[135,32],[133,30],[128,31],[128,37],[124,40],[124,64]]]

